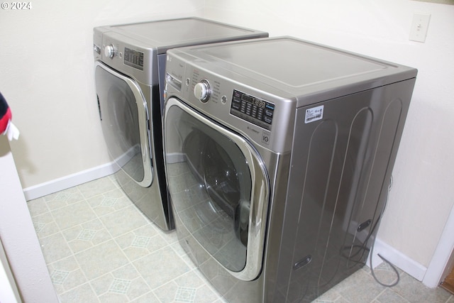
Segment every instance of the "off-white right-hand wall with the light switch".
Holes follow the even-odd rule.
[[[425,43],[409,40],[415,12],[431,14]],[[454,6],[410,0],[206,0],[205,16],[419,69],[378,237],[393,248],[392,255],[409,258],[411,264],[402,267],[421,280],[454,203]]]

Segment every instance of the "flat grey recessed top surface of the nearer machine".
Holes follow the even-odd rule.
[[[227,48],[206,48],[206,55],[292,87],[386,69],[381,62],[309,45],[297,40],[265,40]]]

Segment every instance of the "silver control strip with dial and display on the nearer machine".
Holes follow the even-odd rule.
[[[170,50],[171,52],[171,50]],[[274,91],[255,89],[242,82],[232,81],[221,77],[217,72],[202,69],[199,61],[181,60],[180,57],[167,55],[166,67],[167,96],[178,94],[185,103],[206,116],[222,121],[228,128],[241,133],[255,145],[260,145],[273,153],[288,153],[292,147],[292,125],[289,120],[294,119],[296,98],[279,97]],[[196,84],[202,80],[209,82],[211,95],[206,102],[201,102],[194,96]],[[236,102],[242,101],[239,109]],[[237,101],[235,101],[237,100]],[[253,103],[257,104],[253,104]],[[263,106],[262,116],[260,107]],[[265,107],[272,111],[265,122]],[[255,114],[253,114],[255,111]]]

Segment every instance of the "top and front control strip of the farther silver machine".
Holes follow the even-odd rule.
[[[98,26],[94,28],[94,60],[131,74],[139,82],[157,84],[157,70],[165,67],[164,62],[158,67],[157,56],[170,48],[267,36],[262,31],[196,17]]]

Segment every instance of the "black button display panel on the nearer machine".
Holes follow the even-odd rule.
[[[230,113],[270,131],[275,104],[234,89]]]

